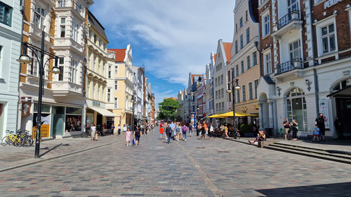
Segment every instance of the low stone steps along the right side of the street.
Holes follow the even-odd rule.
[[[304,155],[307,157],[315,157],[322,160],[351,164],[351,157],[340,157],[340,155],[336,156],[334,154],[322,154],[319,151],[308,151],[308,149],[304,150],[303,148],[289,148],[288,146],[279,146],[277,144],[270,144],[269,146],[264,146],[263,148],[267,148],[274,151],[282,151],[285,153]]]

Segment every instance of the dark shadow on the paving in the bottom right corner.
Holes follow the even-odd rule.
[[[283,187],[277,189],[259,189],[257,192],[265,196],[350,196],[351,182],[324,185],[308,185],[301,187]]]

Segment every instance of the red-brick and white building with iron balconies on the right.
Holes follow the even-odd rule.
[[[350,1],[259,3],[261,128],[282,128],[287,117],[296,119],[300,135],[311,135],[321,112],[326,135],[338,137],[334,119],[342,117],[348,125],[348,99],[329,94],[350,85]]]

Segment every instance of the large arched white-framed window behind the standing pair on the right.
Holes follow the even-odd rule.
[[[286,94],[286,111],[290,122],[293,119],[299,124],[299,130],[307,131],[307,105],[304,91],[298,87],[291,89]]]

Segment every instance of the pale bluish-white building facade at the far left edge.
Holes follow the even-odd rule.
[[[17,130],[19,62],[16,60],[22,54],[23,10],[19,1],[13,0],[1,1],[0,8],[0,137],[3,139],[6,130]]]

